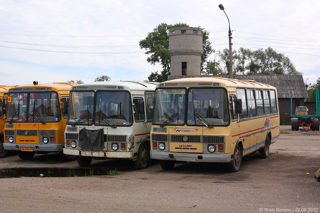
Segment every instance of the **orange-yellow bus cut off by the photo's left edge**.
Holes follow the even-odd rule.
[[[4,143],[4,123],[5,123],[5,104],[7,103],[8,89],[13,86],[0,85],[0,158],[8,154],[8,150],[3,148]]]

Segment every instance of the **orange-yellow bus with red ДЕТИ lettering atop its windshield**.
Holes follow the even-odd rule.
[[[75,160],[62,152],[70,87],[77,83],[24,85],[8,91],[4,149],[16,150],[21,159],[35,153],[60,152],[65,161]]]

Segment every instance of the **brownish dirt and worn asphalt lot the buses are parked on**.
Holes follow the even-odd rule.
[[[119,175],[0,179],[1,212],[320,212],[320,131],[281,126],[267,159],[249,157],[240,171],[223,164],[159,163],[135,170],[132,162],[93,160],[88,168],[120,170]],[[0,168],[78,168],[59,154],[20,160],[11,154]]]

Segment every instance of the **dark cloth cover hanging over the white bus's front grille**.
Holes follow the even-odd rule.
[[[90,130],[81,129],[79,131],[79,145],[82,151],[103,151],[104,135],[103,129]]]

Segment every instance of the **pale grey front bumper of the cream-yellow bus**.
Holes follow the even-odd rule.
[[[188,162],[212,162],[228,163],[231,161],[231,154],[197,154],[197,153],[179,153],[179,152],[160,152],[150,151],[150,157],[158,160],[176,160]]]

